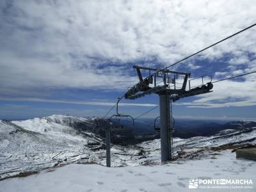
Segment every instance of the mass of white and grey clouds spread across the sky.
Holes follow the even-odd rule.
[[[4,97],[49,96],[65,88],[125,90],[138,81],[133,63],[166,66],[256,21],[253,0],[31,0],[1,1],[0,7]],[[214,78],[256,70],[255,32],[252,28],[180,66],[202,70],[207,67],[198,64],[202,60],[225,63],[208,71]],[[255,87],[255,77],[215,84],[214,92],[185,105],[255,105]]]

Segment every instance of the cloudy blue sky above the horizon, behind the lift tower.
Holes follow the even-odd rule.
[[[0,119],[104,116],[138,83],[133,65],[166,67],[255,24],[255,10],[254,0],[0,1]],[[213,81],[255,71],[255,32],[171,69]],[[256,120],[255,74],[212,90],[174,102],[173,116]],[[122,100],[120,113],[136,117],[158,103],[158,95]]]

